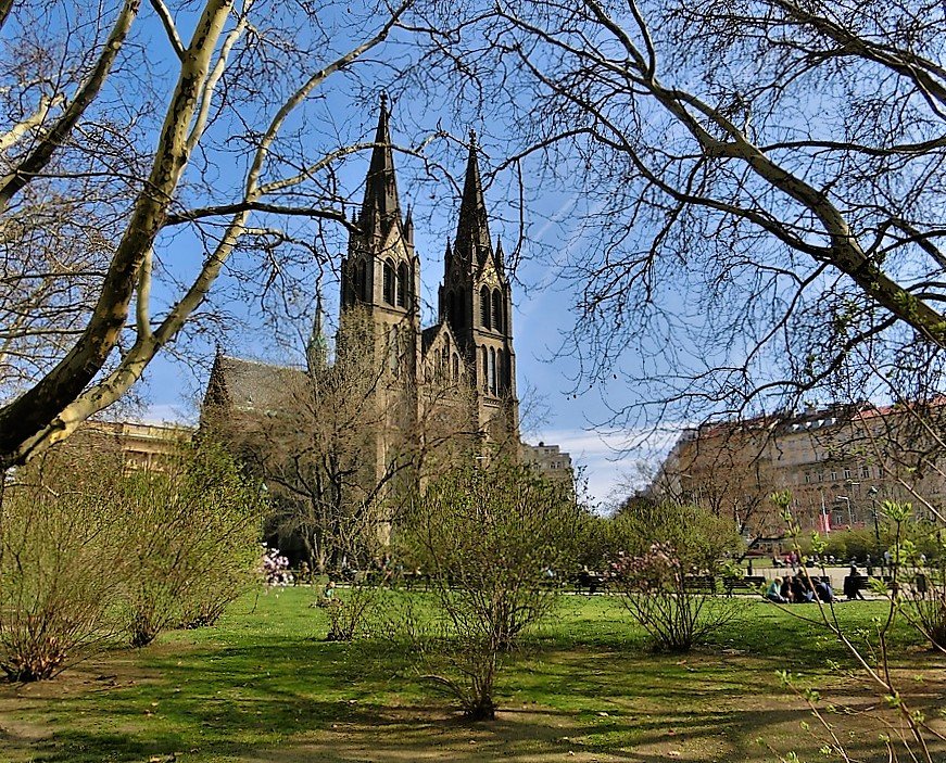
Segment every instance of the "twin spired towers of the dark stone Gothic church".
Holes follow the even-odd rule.
[[[402,216],[398,199],[389,118],[382,97],[357,232],[342,260],[341,319],[356,308],[366,311],[387,344],[391,371],[411,382],[413,394],[422,393],[437,369],[438,378],[469,391],[475,429],[467,434],[517,448],[512,291],[502,245],[494,249],[490,239],[476,137],[470,136],[456,239],[444,254],[438,322],[421,330],[420,260],[411,212]]]

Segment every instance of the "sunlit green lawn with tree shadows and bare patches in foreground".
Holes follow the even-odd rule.
[[[853,709],[831,719],[856,758],[886,760],[876,721],[859,714],[880,702],[853,662],[816,625],[762,602],[681,657],[652,653],[617,599],[564,596],[504,670],[497,720],[469,725],[418,678],[403,644],[324,641],[314,597],[306,588],[248,597],[215,628],[164,634],[53,682],[0,685],[0,761],[777,760],[759,737],[825,760],[823,732],[805,729],[810,712],[779,670]],[[838,607],[852,632],[869,631],[883,610]],[[894,647],[909,700],[943,707],[944,659],[906,627]]]

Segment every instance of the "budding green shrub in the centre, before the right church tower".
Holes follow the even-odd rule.
[[[502,461],[443,476],[414,507],[415,558],[441,613],[418,632],[419,653],[446,660],[447,672],[430,678],[468,719],[494,716],[502,653],[552,611],[557,589],[546,570],[573,558],[581,519],[564,486]]]

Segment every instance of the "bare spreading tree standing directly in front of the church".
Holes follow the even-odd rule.
[[[409,349],[378,328],[348,308],[331,364],[311,351],[305,370],[264,367],[252,406],[231,395],[205,412],[269,485],[277,531],[301,538],[319,571],[377,556],[408,496],[474,442],[465,381],[436,364],[420,379],[399,372]]]

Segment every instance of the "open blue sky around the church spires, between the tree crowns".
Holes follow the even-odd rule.
[[[185,20],[179,17],[179,22]],[[155,20],[142,16],[141,40],[152,50],[166,47]],[[155,48],[156,47],[156,48]],[[337,130],[343,138],[352,140],[367,139],[374,132],[377,122],[377,91],[383,87],[382,78],[390,76],[386,71],[384,56],[404,55],[404,47],[393,44],[390,49],[379,52],[378,76],[379,85],[370,92],[371,66],[368,64],[367,75],[362,80],[367,82],[368,92],[355,93],[346,85],[345,79],[331,84],[328,89],[313,101],[312,110],[306,119],[312,125],[318,125],[318,132],[307,135],[305,122],[290,125],[298,130],[294,140],[310,141],[313,152],[319,150],[319,141]],[[167,51],[169,53],[169,50]],[[349,88],[348,90],[345,88]],[[421,282],[426,309],[424,323],[429,326],[437,319],[431,309],[436,305],[436,294],[439,279],[443,272],[442,255],[445,239],[452,236],[456,228],[458,207],[459,180],[464,171],[465,148],[459,141],[465,140],[469,129],[476,129],[481,135],[501,132],[502,127],[483,124],[476,118],[464,117],[458,111],[447,107],[449,93],[436,93],[436,98],[425,102],[426,110],[418,107],[409,98],[394,97],[392,102],[393,140],[402,145],[416,145],[425,135],[445,128],[453,139],[453,153],[445,171],[454,178],[454,185],[446,177],[431,179],[429,173],[425,177],[425,167],[418,157],[399,153],[395,164],[399,169],[399,190],[402,208],[414,206],[417,221],[415,242],[421,257]],[[430,103],[444,104],[443,111],[430,107]],[[377,101],[374,101],[376,103]],[[500,141],[481,141],[484,144],[481,156],[481,171],[487,181],[487,205],[495,213],[490,226],[493,238],[503,240],[508,252],[514,245],[517,229],[515,215],[510,215],[510,200],[506,198],[504,188],[509,187],[509,177],[492,177],[492,168],[499,165],[504,156],[500,153]],[[227,161],[220,161],[215,169],[220,187],[234,183],[239,187],[241,175],[228,167]],[[361,201],[362,183],[368,165],[368,152],[357,155],[346,162],[339,171],[339,182],[354,202]],[[417,181],[417,178],[422,178]],[[495,182],[491,182],[495,180]],[[530,179],[527,178],[527,181]],[[431,185],[437,188],[431,188]],[[537,419],[527,417],[524,421],[524,438],[531,443],[545,442],[556,444],[563,450],[570,453],[573,465],[578,468],[582,481],[586,484],[588,500],[601,510],[627,496],[634,486],[642,483],[642,474],[653,469],[660,456],[669,448],[677,432],[671,425],[667,431],[649,434],[644,431],[620,431],[603,425],[609,417],[608,404],[627,404],[633,398],[633,391],[621,387],[619,383],[608,389],[594,387],[583,390],[577,386],[580,369],[575,357],[557,354],[563,336],[571,329],[573,314],[571,304],[573,295],[558,279],[562,265],[579,252],[583,245],[589,245],[575,236],[569,229],[569,219],[575,198],[548,193],[538,194],[530,204],[529,214],[534,215],[534,225],[530,229],[530,240],[526,242],[526,255],[516,272],[517,283],[514,285],[514,346],[517,356],[517,384],[522,399],[524,410],[539,410]],[[343,246],[343,244],[342,244]],[[186,274],[198,262],[193,256],[197,241],[187,234],[176,233],[161,243],[160,254],[168,268],[177,267]],[[538,254],[541,249],[541,255]],[[342,249],[331,253],[335,266],[341,256]],[[550,254],[551,253],[551,254]],[[534,255],[534,256],[532,256]],[[304,320],[311,320],[314,305],[315,282],[325,274],[313,267],[311,272],[297,274],[300,282],[312,285],[302,300]],[[219,287],[232,287],[224,277]],[[337,282],[329,277],[324,280],[326,309],[330,316],[338,309]],[[155,300],[171,304],[176,300],[173,285],[166,291],[157,285]],[[244,304],[229,304],[229,315],[232,320],[227,328],[223,342],[224,352],[241,357],[283,359],[285,348],[269,342],[266,327],[258,322],[258,310],[251,295],[244,296]],[[306,332],[300,330],[299,336]],[[213,341],[206,339],[197,342],[200,359],[194,361],[193,355],[179,360],[175,354],[159,356],[146,371],[144,381],[137,392],[144,400],[137,418],[155,422],[181,422],[194,424],[198,418],[197,400],[200,399],[206,385],[210,370],[210,359],[213,356]],[[174,351],[175,347],[172,347]],[[302,360],[301,346],[297,346],[299,361]],[[291,360],[291,357],[289,358]],[[633,359],[631,359],[633,363]],[[644,441],[644,442],[641,442]]]

